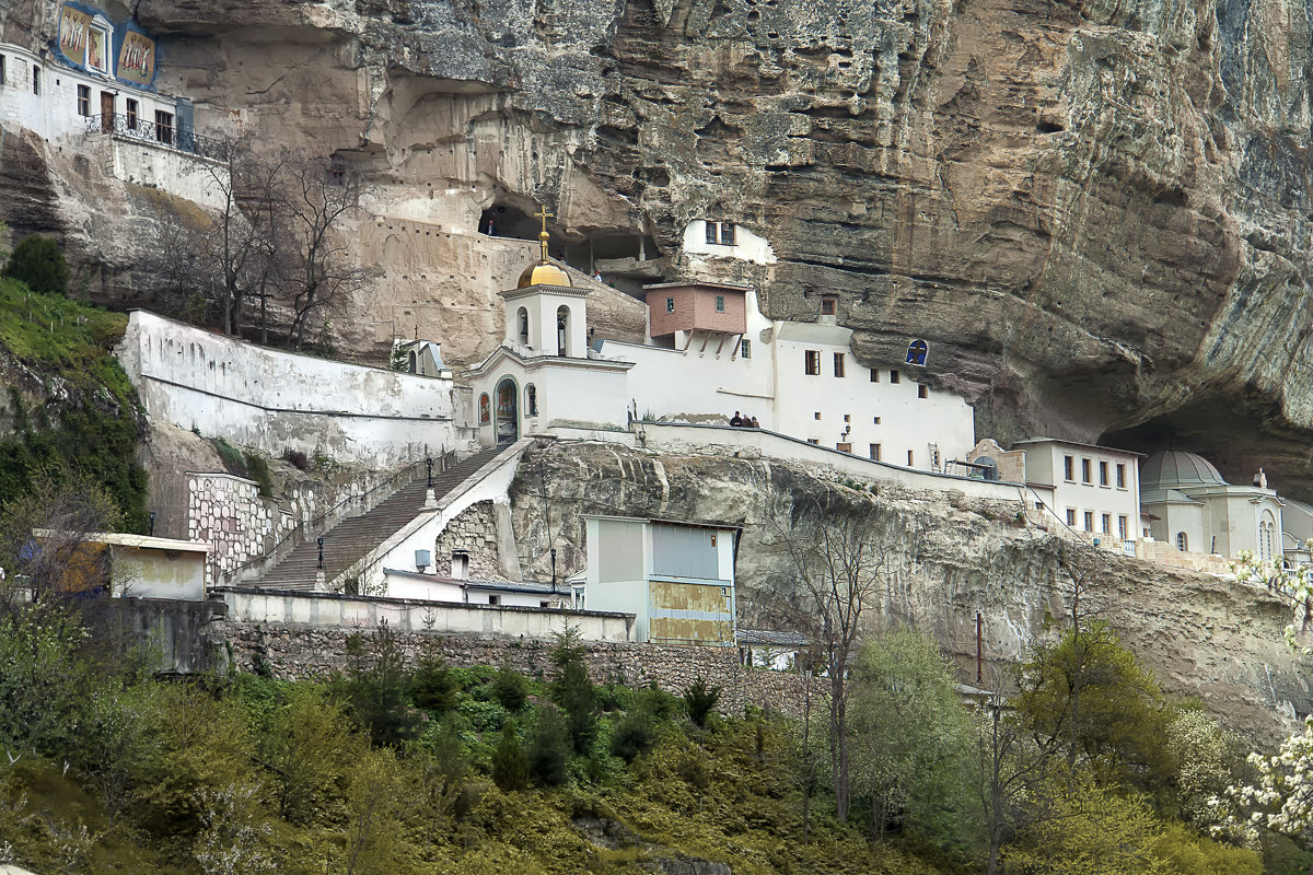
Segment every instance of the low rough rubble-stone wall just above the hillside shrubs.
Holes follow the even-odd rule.
[[[282,623],[215,623],[210,635],[230,645],[232,666],[242,672],[268,672],[281,680],[324,678],[347,668],[348,630],[314,628]],[[402,632],[411,661],[436,655],[452,665],[496,665],[529,677],[549,677],[553,643],[536,639],[495,639]],[[655,682],[680,694],[699,677],[721,687],[720,708],[741,711],[746,704],[798,715],[804,710],[804,677],[792,672],[746,668],[735,648],[675,644],[586,644],[588,674],[595,683],[628,686]],[[813,687],[813,694],[819,687]]]

